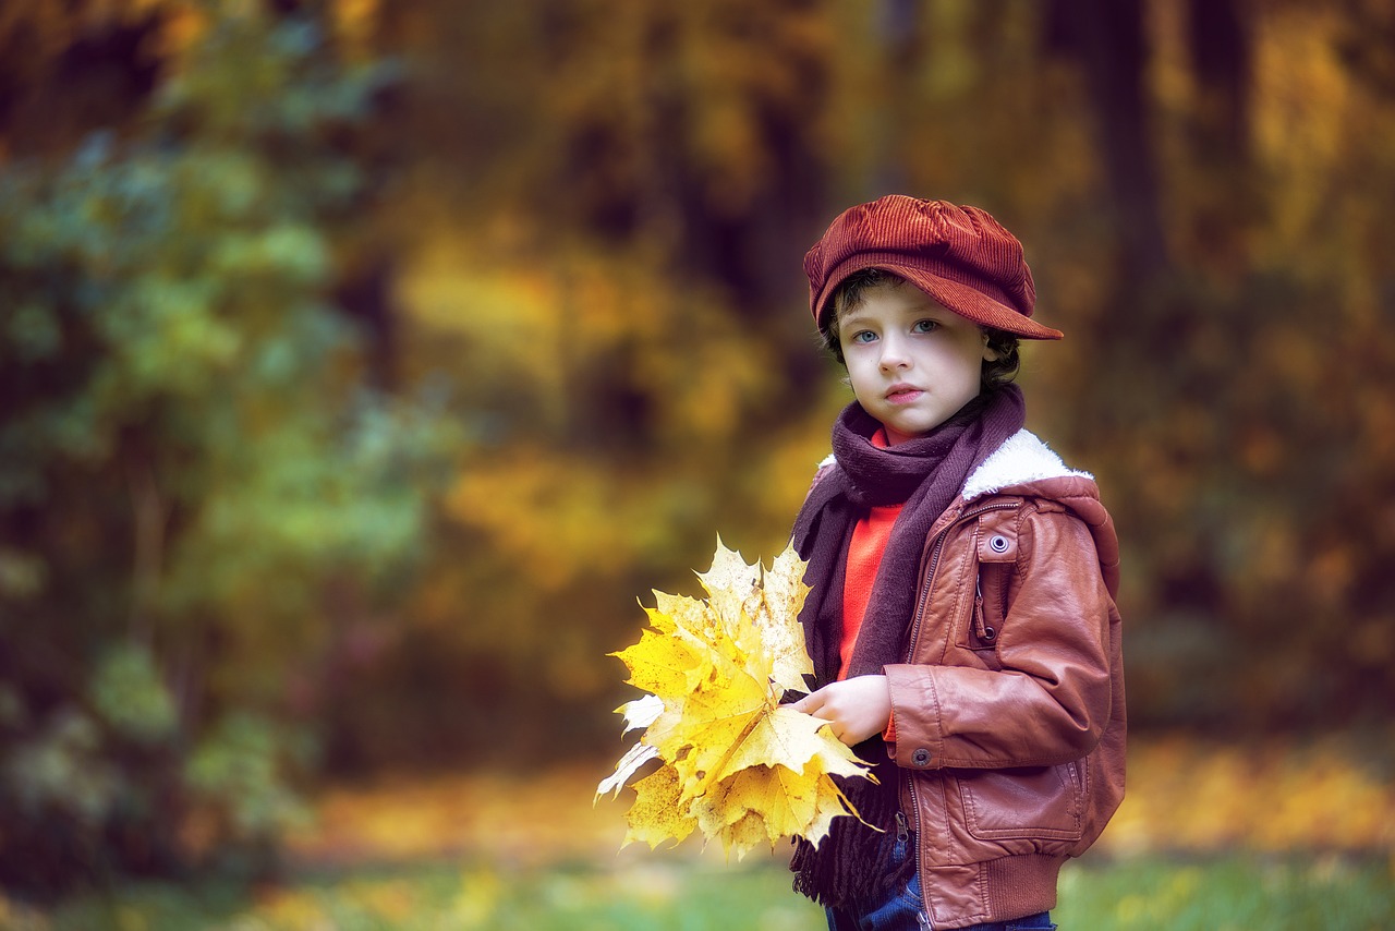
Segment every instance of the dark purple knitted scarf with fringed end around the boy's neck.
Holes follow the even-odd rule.
[[[905,662],[925,539],[970,473],[1021,430],[1024,420],[1023,394],[1016,385],[979,395],[929,434],[890,448],[872,445],[872,434],[882,424],[857,402],[838,415],[833,424],[837,462],[809,491],[794,526],[795,549],[809,561],[805,582],[812,590],[799,620],[813,660],[815,687],[838,676],[843,582],[858,519],[870,507],[904,502],[872,585],[850,677],[875,676],[887,664]],[[882,833],[855,818],[836,818],[817,847],[799,839],[790,864],[797,874],[794,888],[833,907],[870,902],[908,879],[915,868],[915,857],[900,870],[891,865],[901,776],[887,758],[884,741],[873,737],[857,752],[875,764],[879,784],[847,779],[840,780],[840,787]]]

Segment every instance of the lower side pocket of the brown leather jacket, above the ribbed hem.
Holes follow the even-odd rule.
[[[979,840],[1080,840],[1085,761],[983,769],[958,777],[964,825]]]

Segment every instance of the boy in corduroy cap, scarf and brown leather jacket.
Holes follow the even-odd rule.
[[[890,195],[805,257],[857,398],[795,521],[816,688],[876,764],[862,819],[801,840],[829,927],[1050,928],[1056,877],[1123,797],[1119,544],[1094,479],[1023,429],[1023,247],[986,212]]]

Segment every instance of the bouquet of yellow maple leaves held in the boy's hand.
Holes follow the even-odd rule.
[[[819,843],[834,818],[858,817],[830,776],[873,779],[869,765],[827,722],[780,703],[813,674],[798,621],[805,567],[792,546],[769,571],[746,565],[718,539],[711,569],[698,574],[707,599],[654,592],[640,641],[611,653],[647,692],[617,709],[626,733],[644,733],[596,797],[661,761],[633,786],[625,844],[657,847],[699,831],[739,858],[780,837]]]

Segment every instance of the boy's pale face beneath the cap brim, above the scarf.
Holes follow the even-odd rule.
[[[872,288],[838,317],[838,342],[862,408],[891,445],[922,435],[978,396],[983,329],[910,283]]]

